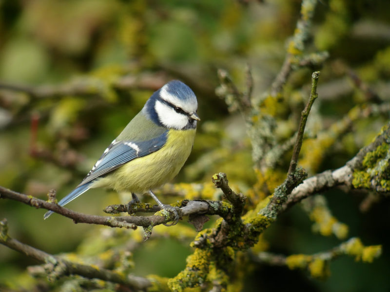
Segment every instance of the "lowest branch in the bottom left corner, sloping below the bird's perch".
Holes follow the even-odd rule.
[[[34,258],[39,262],[46,263],[45,269],[49,273],[50,277],[59,278],[65,275],[77,274],[89,279],[101,279],[103,281],[110,281],[113,283],[118,283],[126,285],[127,287],[134,289],[136,291],[145,290],[151,286],[151,282],[142,277],[137,277],[134,275],[124,276],[123,274],[117,273],[115,271],[95,268],[89,265],[83,265],[76,262],[71,262],[65,259],[61,259],[57,256],[47,254],[39,249],[36,249],[27,244],[21,243],[20,241],[9,237],[6,230],[6,219],[1,221],[1,236],[0,243],[18,251],[26,256]]]

